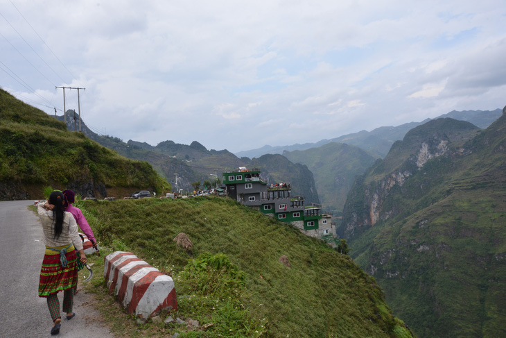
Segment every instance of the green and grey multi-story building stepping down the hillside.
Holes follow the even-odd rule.
[[[336,236],[331,214],[322,214],[322,205],[305,205],[304,196],[292,195],[289,184],[268,185],[260,178],[260,171],[241,167],[238,171],[224,172],[223,183],[230,198],[274,217],[291,223],[306,235],[323,238]]]

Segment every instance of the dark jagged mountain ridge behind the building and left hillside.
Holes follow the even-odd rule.
[[[74,130],[77,126],[74,117],[79,115],[73,110],[67,111],[67,128]],[[63,121],[64,117],[58,117]],[[207,150],[199,142],[190,145],[173,141],[160,142],[151,146],[146,142],[128,140],[123,142],[117,137],[103,136],[94,133],[81,121],[81,130],[91,140],[134,160],[146,161],[157,172],[171,182],[174,189],[185,192],[193,190],[192,183],[199,181],[201,187],[205,182],[216,184],[224,171],[234,171],[239,167],[260,169],[266,183],[290,183],[293,194],[306,198],[306,203],[320,203],[313,174],[304,164],[295,164],[281,155],[263,155],[260,158],[238,158],[226,149]],[[175,176],[177,174],[177,176]],[[177,184],[175,182],[177,177]],[[213,184],[213,182],[215,182]]]

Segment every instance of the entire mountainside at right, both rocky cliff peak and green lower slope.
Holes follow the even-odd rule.
[[[419,337],[506,337],[505,131],[430,121],[348,195],[338,233]]]

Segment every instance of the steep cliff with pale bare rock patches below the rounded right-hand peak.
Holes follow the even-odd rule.
[[[378,160],[356,180],[344,205],[338,233],[352,238],[377,221],[412,212],[412,208],[401,208],[394,199],[403,196],[416,200],[439,186],[446,174],[455,169],[452,159],[465,152],[464,142],[479,131],[480,128],[469,122],[449,118],[428,121],[410,130],[403,141],[392,145],[385,159]],[[429,160],[433,162],[425,167]],[[428,171],[431,175],[427,174]],[[408,178],[415,174],[418,174],[417,179],[410,180],[410,184],[404,187]],[[392,196],[391,192],[394,193]],[[430,201],[418,201],[414,207],[422,207],[420,203]]]

